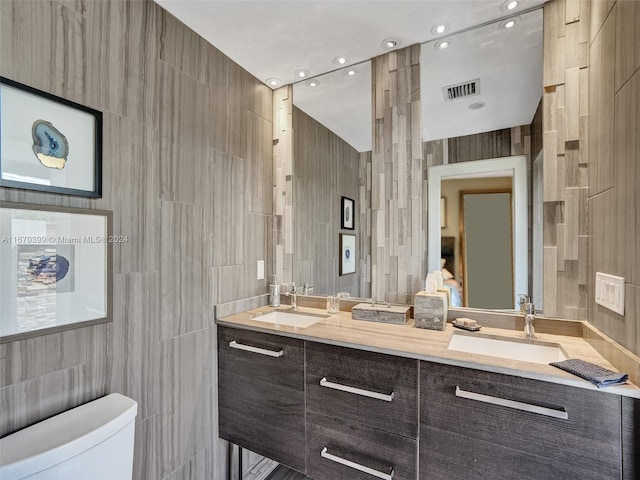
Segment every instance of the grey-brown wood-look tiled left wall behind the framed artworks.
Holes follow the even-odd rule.
[[[226,478],[213,305],[267,292],[272,92],[150,0],[2,1],[0,74],[104,112],[113,322],[0,346],[0,435],[109,392],[138,402],[135,479]]]

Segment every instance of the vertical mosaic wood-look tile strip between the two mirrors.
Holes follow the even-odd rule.
[[[420,45],[372,60],[371,281],[379,300],[424,282]]]

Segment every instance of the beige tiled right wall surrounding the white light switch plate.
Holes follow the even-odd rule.
[[[588,25],[589,320],[640,355],[640,3],[593,1]],[[625,278],[624,316],[595,303],[596,272]]]

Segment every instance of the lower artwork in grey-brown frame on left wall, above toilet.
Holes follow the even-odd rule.
[[[111,212],[0,202],[0,343],[110,319]]]

